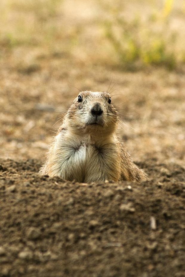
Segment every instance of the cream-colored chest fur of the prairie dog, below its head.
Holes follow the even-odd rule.
[[[77,182],[116,181],[121,172],[119,152],[111,140],[94,142],[60,133],[52,147],[49,173]]]

